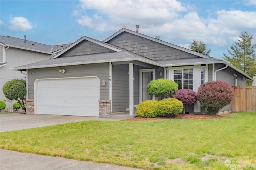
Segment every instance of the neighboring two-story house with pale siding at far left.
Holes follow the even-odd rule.
[[[0,36],[0,100],[5,101],[6,109],[11,109],[15,101],[4,97],[2,88],[12,79],[26,79],[26,70],[13,71],[10,68],[50,59],[70,44],[45,45],[24,39]]]

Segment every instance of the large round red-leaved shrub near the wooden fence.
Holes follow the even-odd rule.
[[[208,114],[216,115],[224,106],[230,104],[234,91],[230,84],[223,81],[211,81],[201,84],[198,88],[197,99]]]

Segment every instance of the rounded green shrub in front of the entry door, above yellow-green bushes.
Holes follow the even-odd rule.
[[[146,89],[149,95],[160,101],[170,98],[178,90],[178,84],[169,79],[157,79],[150,81]]]

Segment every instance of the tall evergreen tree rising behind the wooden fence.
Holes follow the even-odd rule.
[[[223,59],[244,71],[250,77],[256,75],[256,54],[254,48],[256,44],[252,45],[253,36],[250,36],[246,31],[241,32],[238,42],[232,45],[228,50],[229,55],[223,53]],[[252,85],[251,80],[246,80],[246,85]]]

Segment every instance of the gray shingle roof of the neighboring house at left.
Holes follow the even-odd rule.
[[[58,51],[60,49],[64,49],[68,47],[71,43],[69,44],[62,44],[62,45],[46,45],[42,43],[37,43],[37,42],[32,42],[26,40],[24,42],[24,39],[20,38],[15,38],[11,36],[0,36],[0,42],[3,43],[4,45],[13,45],[16,47],[22,47],[22,48],[27,48],[30,50],[37,50],[37,51],[43,51],[43,52],[48,52],[48,53],[54,53],[55,51]]]

